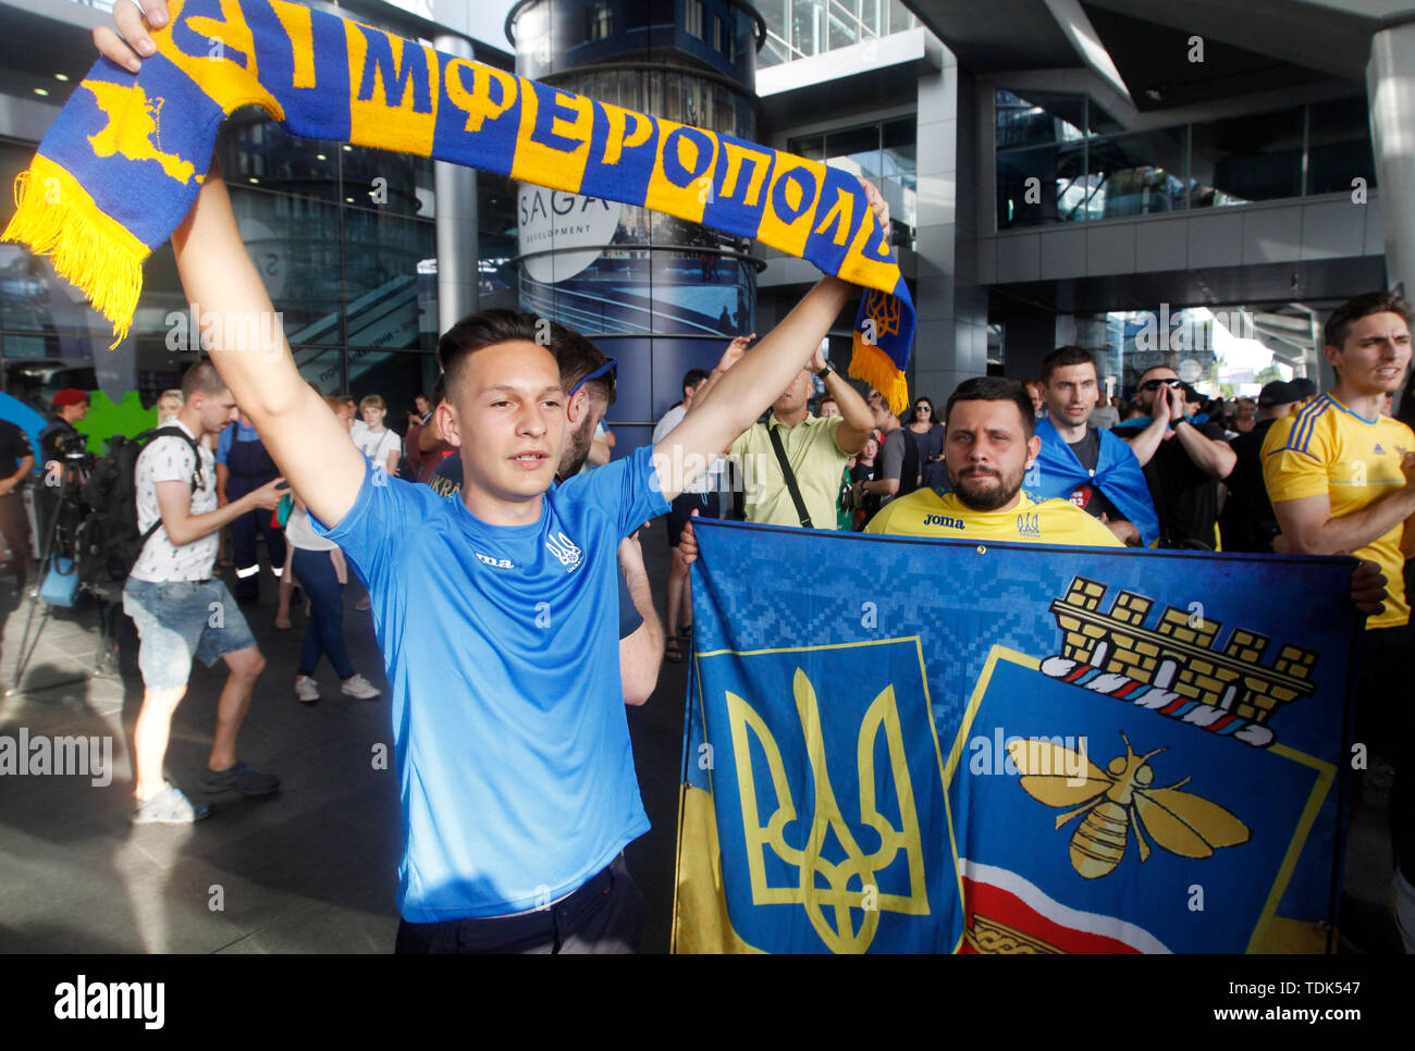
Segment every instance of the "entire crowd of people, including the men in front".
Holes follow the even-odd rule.
[[[865,191],[887,231],[887,205]],[[205,311],[273,310],[216,166],[173,248]],[[238,753],[265,668],[236,601],[258,587],[258,533],[276,577],[289,542],[310,597],[301,702],[317,696],[323,658],[359,696],[341,637],[344,566],[366,586],[392,693],[400,952],[635,948],[642,898],[623,850],[648,819],[625,704],[652,693],[659,662],[691,638],[693,516],[969,543],[1348,553],[1360,559],[1350,601],[1368,614],[1356,733],[1397,765],[1397,917],[1415,949],[1415,806],[1398,768],[1415,431],[1384,414],[1409,373],[1409,306],[1373,293],[1332,314],[1324,395],[1274,382],[1230,414],[1156,365],[1128,403],[1102,405],[1092,355],[1061,347],[1030,385],[966,379],[941,410],[917,397],[900,419],[822,351],[857,293],[824,277],[756,347],[734,339],[710,372],[685,375],[652,443],[618,458],[603,433],[614,362],[545,318],[483,311],[444,332],[441,379],[402,441],[381,397],[327,399],[287,349],[272,362],[218,327],[183,379],[174,430],[136,470],[144,542],[123,593],[144,686],[133,820],[190,823],[207,809],[163,770],[195,658],[229,666],[202,789],[279,786]],[[65,426],[79,402],[57,405]],[[8,443],[0,489],[24,451]],[[640,540],[665,515],[666,632]],[[226,526],[235,597],[216,573]]]

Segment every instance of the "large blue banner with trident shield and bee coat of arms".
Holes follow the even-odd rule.
[[[1353,560],[698,538],[676,952],[1330,949]]]

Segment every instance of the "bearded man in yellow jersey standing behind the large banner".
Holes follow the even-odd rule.
[[[1027,389],[1000,376],[958,385],[948,399],[944,468],[951,491],[916,489],[887,504],[865,528],[954,540],[1064,543],[1124,547],[1098,519],[1071,501],[1040,504],[1022,478],[1041,451]]]

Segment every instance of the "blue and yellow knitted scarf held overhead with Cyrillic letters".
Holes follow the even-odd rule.
[[[904,279],[856,180],[816,161],[550,88],[282,0],[171,0],[136,76],[102,59],[16,181],[6,240],[126,335],[142,263],[197,197],[221,120],[399,150],[756,238],[867,289],[850,375],[908,403]]]

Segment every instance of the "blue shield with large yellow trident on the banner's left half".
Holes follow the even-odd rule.
[[[947,822],[920,818],[947,801],[918,644],[860,649],[699,658],[727,908],[753,948],[954,948]]]

